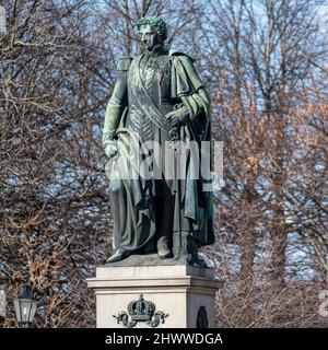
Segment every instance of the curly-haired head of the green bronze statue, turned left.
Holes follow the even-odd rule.
[[[166,24],[161,18],[142,18],[137,22],[144,50],[153,50],[167,38]]]

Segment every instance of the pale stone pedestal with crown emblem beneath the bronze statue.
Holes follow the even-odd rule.
[[[129,319],[128,326],[151,328],[157,323],[156,317],[151,317],[152,325],[144,319],[152,307],[155,312],[163,312],[162,315],[168,315],[157,328],[197,328],[206,325],[213,328],[214,295],[222,282],[215,280],[214,269],[204,267],[105,266],[96,269],[96,278],[89,279],[87,287],[96,295],[97,328],[125,328],[122,318],[118,323],[114,317],[119,317],[120,313]],[[143,298],[143,304],[137,304],[140,298]],[[134,313],[132,318],[131,311]]]

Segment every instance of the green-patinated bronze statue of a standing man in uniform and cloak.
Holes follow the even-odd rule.
[[[211,163],[211,149],[201,150],[211,141],[209,96],[194,59],[165,47],[161,18],[137,28],[142,54],[118,61],[104,124],[114,218],[107,264],[155,254],[203,265],[198,248],[214,243],[213,197],[200,166]]]

